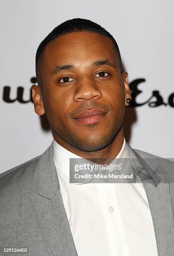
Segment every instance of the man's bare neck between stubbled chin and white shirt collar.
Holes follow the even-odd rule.
[[[56,136],[55,133],[52,134],[55,141],[58,144],[60,144],[60,146],[64,147],[73,154],[76,154],[77,156],[80,156],[85,159],[114,159],[119,154],[119,151],[121,150],[124,141],[124,132],[122,127],[119,133],[117,133],[117,136],[115,137],[114,141],[109,146],[101,150],[88,152],[75,148],[70,144],[66,143],[65,141],[63,141],[60,137]]]

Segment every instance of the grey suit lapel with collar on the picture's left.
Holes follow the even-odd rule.
[[[38,192],[31,195],[31,200],[47,251],[54,256],[77,256],[60,193],[52,145],[40,157],[37,172]]]

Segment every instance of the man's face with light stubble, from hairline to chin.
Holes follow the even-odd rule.
[[[55,140],[83,151],[112,143],[124,118],[126,77],[106,36],[73,32],[51,41],[42,61],[42,99]]]

